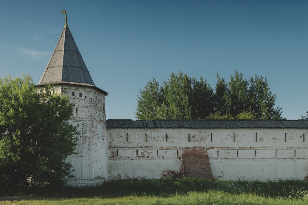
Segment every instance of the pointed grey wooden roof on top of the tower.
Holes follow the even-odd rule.
[[[95,86],[67,22],[37,86],[59,83]]]

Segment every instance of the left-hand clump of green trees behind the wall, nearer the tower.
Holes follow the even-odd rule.
[[[214,110],[213,90],[206,80],[190,78],[180,71],[172,74],[161,86],[153,78],[138,96],[136,118],[204,119]]]

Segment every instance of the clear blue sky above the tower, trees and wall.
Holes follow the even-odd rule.
[[[154,77],[182,70],[214,89],[267,78],[282,117],[308,111],[308,1],[2,1],[0,76],[38,83],[67,24],[95,85],[109,93],[107,119],[135,119],[137,95]]]

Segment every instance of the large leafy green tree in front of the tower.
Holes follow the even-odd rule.
[[[38,90],[29,75],[0,78],[0,190],[7,193],[62,185],[77,127],[67,122],[67,96]]]

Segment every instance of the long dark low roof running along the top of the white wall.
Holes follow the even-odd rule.
[[[308,120],[131,120],[108,119],[107,128],[308,128]]]

